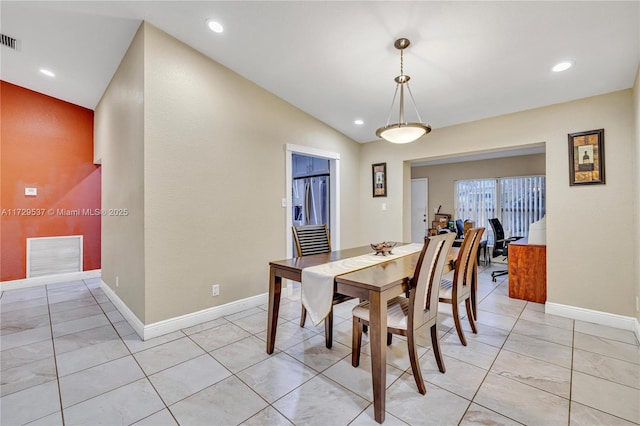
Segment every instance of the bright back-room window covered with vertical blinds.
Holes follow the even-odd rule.
[[[454,191],[455,217],[472,220],[489,233],[489,219],[497,217],[507,235],[527,237],[529,225],[545,214],[544,176],[459,180]]]

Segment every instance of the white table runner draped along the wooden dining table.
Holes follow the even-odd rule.
[[[394,247],[393,254],[386,256],[369,253],[362,256],[341,259],[335,262],[311,266],[302,270],[301,299],[314,326],[320,324],[331,311],[333,283],[337,275],[357,271],[378,263],[407,256],[422,250],[423,244],[411,243]]]

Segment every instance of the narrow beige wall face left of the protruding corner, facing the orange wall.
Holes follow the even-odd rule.
[[[102,280],[138,317],[145,314],[144,32],[138,30],[94,116],[94,156],[102,163]],[[116,287],[118,277],[118,287]]]

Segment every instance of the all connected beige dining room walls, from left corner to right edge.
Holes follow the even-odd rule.
[[[130,211],[103,220],[103,280],[144,324],[265,293],[268,261],[285,256],[285,144],[340,153],[347,247],[410,235],[409,162],[544,143],[549,301],[635,315],[637,244],[603,224],[638,235],[638,110],[636,85],[405,146],[358,145],[144,24],[96,109],[103,207]],[[607,184],[569,187],[567,133],[597,128]],[[370,194],[377,162],[386,198]]]

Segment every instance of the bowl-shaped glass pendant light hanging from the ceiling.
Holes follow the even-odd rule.
[[[411,77],[404,74],[404,49],[409,47],[409,44],[411,44],[411,42],[406,38],[399,38],[393,44],[396,49],[400,50],[400,75],[394,79],[396,82],[396,91],[393,95],[393,100],[391,101],[391,109],[389,110],[389,118],[387,118],[387,124],[386,126],[380,127],[378,130],[376,130],[376,136],[392,143],[413,142],[422,135],[426,135],[431,131],[431,126],[429,126],[428,124],[424,124],[422,122],[422,118],[420,118],[420,113],[418,112],[418,108],[416,107],[416,101],[415,99],[413,99],[413,94],[411,93],[411,89],[409,88],[409,80],[411,79]],[[407,92],[409,92],[409,96],[411,97],[413,108],[418,115],[418,123],[407,123],[404,120],[405,86],[407,86]],[[391,120],[391,110],[393,110],[393,105],[396,101],[398,88],[400,89],[400,113],[398,115],[398,122],[389,124],[389,121]]]

